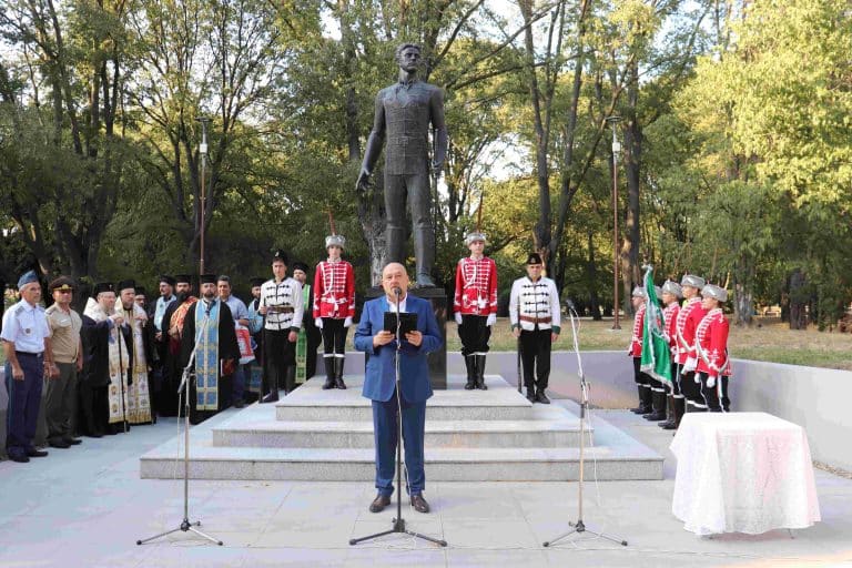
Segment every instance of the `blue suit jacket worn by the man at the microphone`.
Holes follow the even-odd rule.
[[[399,352],[402,395],[408,403],[422,403],[432,396],[426,354],[440,347],[443,339],[438,322],[427,301],[408,294],[405,303],[406,312],[417,314],[417,331],[423,333],[423,343],[415,347],[403,338]],[[364,304],[361,322],[355,329],[355,348],[369,355],[362,395],[372,400],[389,400],[396,387],[396,339],[387,345],[373,347],[373,336],[383,329],[387,311],[389,305],[386,296],[371,300]]]

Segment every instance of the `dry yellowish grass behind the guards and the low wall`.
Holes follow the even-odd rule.
[[[627,349],[630,343],[632,321],[621,321],[621,329],[612,329],[612,320],[594,322],[582,318],[579,325],[579,343],[582,351]],[[554,346],[570,349],[571,327],[562,322],[562,334]],[[509,332],[507,318],[499,318],[491,333],[493,351],[514,351],[516,341]],[[777,317],[758,318],[751,328],[732,327],[728,342],[731,356],[736,358],[808,365],[813,367],[852,371],[852,334],[838,332],[791,331]],[[459,351],[456,324],[447,323],[447,349]]]

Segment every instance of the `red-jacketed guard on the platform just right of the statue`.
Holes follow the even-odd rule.
[[[497,322],[497,264],[483,254],[485,233],[474,231],[465,237],[470,256],[456,265],[456,294],[453,308],[462,339],[462,356],[467,367],[470,390],[487,390],[485,384],[485,357],[491,326]]]

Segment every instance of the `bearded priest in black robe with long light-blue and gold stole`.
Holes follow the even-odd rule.
[[[181,336],[181,366],[195,351],[190,384],[190,422],[199,424],[231,404],[231,379],[240,361],[234,316],[217,296],[216,275],[201,275],[201,300],[186,310]]]

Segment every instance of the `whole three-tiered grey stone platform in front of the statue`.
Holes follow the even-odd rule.
[[[346,390],[313,378],[276,405],[254,404],[191,430],[194,479],[369,481],[375,475],[369,400],[363,376]],[[530,404],[499,375],[488,390],[464,389],[450,375],[426,409],[426,475],[436,481],[565,481],[579,477],[579,418],[559,405]],[[586,475],[662,479],[662,457],[598,420],[587,433]],[[182,470],[182,436],[140,460],[142,478]]]

